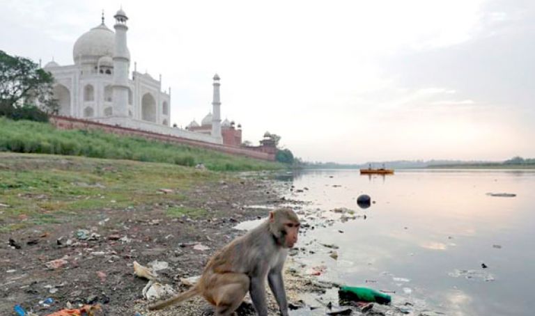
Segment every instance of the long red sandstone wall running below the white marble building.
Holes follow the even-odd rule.
[[[184,139],[182,137],[157,134],[153,132],[142,131],[140,129],[131,129],[127,127],[107,125],[107,124],[102,124],[98,122],[93,122],[90,120],[82,120],[79,118],[68,118],[65,116],[52,116],[50,118],[50,123],[52,123],[59,129],[100,129],[104,132],[113,133],[113,134],[126,135],[126,136],[139,136],[139,137],[144,137],[145,139],[153,139],[155,141],[164,141],[168,143],[180,143],[180,144],[185,144],[185,145],[192,145],[196,147],[217,150],[220,152],[226,152],[227,154],[231,154],[231,155],[242,155],[242,156],[247,156],[251,158],[270,160],[270,161],[275,160],[274,154],[269,154],[266,152],[248,150],[245,148],[230,147],[227,145],[205,143],[203,141],[193,141],[191,139]]]

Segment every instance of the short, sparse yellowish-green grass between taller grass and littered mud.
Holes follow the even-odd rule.
[[[92,210],[176,205],[200,183],[226,178],[175,164],[114,159],[0,153],[0,232],[80,220]],[[160,189],[171,189],[163,193]],[[201,216],[203,210],[175,209],[169,216]]]

